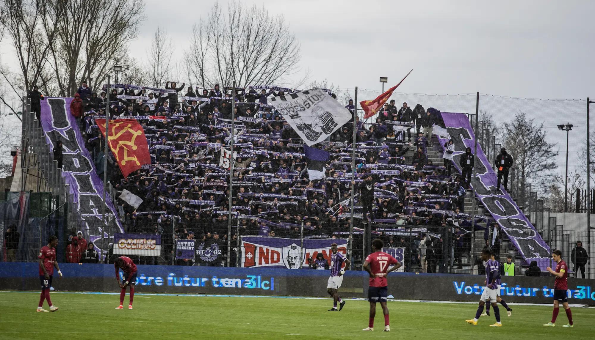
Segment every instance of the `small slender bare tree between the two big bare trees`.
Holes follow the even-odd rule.
[[[149,65],[149,81],[155,87],[165,84],[171,76],[172,57],[174,53],[174,44],[167,32],[157,26],[153,40],[151,41],[151,48],[147,50]]]

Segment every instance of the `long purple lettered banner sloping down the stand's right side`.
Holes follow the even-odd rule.
[[[459,165],[461,155],[465,153],[466,147],[471,147],[471,150],[474,150],[475,147],[474,131],[466,114],[443,112],[442,119],[444,119],[446,130],[455,142],[453,160],[456,168],[461,171]],[[444,147],[448,139],[437,137],[440,145]],[[512,200],[512,197],[508,193],[496,192],[496,172],[488,162],[479,143],[475,154],[475,171],[475,177],[471,178],[471,185],[478,199],[500,225],[500,229],[508,235],[523,259],[527,263],[535,260],[537,265],[545,270],[550,265],[550,247]]]

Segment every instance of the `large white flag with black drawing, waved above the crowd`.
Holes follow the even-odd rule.
[[[327,139],[352,117],[349,110],[320,88],[270,100],[308,146]]]

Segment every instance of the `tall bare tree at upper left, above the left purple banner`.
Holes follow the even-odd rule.
[[[43,31],[50,40],[48,74],[44,83],[54,82],[57,95],[72,96],[80,82],[92,89],[104,83],[118,59],[127,53],[143,20],[143,4],[132,0],[48,0]],[[42,37],[46,39],[46,37]]]

